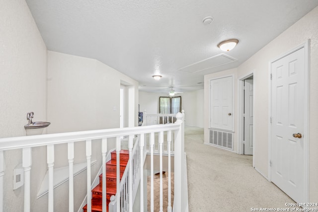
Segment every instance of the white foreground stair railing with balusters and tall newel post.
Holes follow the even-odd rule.
[[[162,138],[164,135],[164,132],[167,132],[167,135],[174,134],[174,202],[173,202],[173,211],[174,212],[184,212],[185,206],[182,203],[187,203],[187,200],[183,200],[183,190],[185,189],[182,187],[182,173],[184,173],[183,162],[184,162],[184,124],[183,124],[183,115],[181,113],[178,113],[176,115],[177,121],[174,124],[166,124],[166,125],[155,125],[155,126],[143,126],[143,127],[133,127],[133,128],[119,128],[119,129],[107,129],[107,130],[94,130],[94,131],[83,131],[83,132],[72,132],[72,133],[62,133],[62,134],[47,134],[47,135],[39,135],[39,136],[28,136],[28,137],[12,137],[12,138],[2,138],[0,139],[0,212],[7,211],[3,206],[5,205],[3,203],[3,186],[5,182],[3,181],[5,173],[5,167],[4,167],[4,154],[3,151],[6,150],[12,150],[12,149],[22,149],[22,166],[24,168],[24,212],[30,212],[31,211],[31,204],[30,204],[30,185],[31,185],[31,179],[30,179],[30,172],[31,165],[32,165],[32,148],[37,146],[47,146],[47,163],[48,163],[48,172],[49,172],[49,188],[48,188],[48,211],[53,212],[54,211],[54,188],[53,188],[53,168],[54,168],[54,146],[57,144],[62,143],[68,143],[68,160],[69,160],[69,170],[70,170],[70,182],[69,182],[69,211],[74,211],[74,179],[72,175],[72,169],[73,169],[73,161],[74,161],[74,143],[79,141],[85,141],[86,142],[86,162],[87,162],[87,212],[91,212],[91,170],[90,170],[90,159],[91,159],[91,142],[92,140],[101,140],[101,155],[102,160],[105,160],[105,154],[107,152],[106,144],[108,138],[116,138],[116,152],[117,152],[117,160],[119,161],[119,151],[121,150],[121,137],[123,136],[129,136],[129,149],[132,148],[132,139],[135,135],[140,135],[140,141],[139,141],[139,148],[138,148],[138,154],[139,154],[139,166],[140,166],[140,186],[141,186],[141,202],[140,205],[144,206],[144,182],[143,182],[143,163],[144,163],[144,146],[145,146],[145,138],[147,142],[147,137],[145,135],[151,134],[154,135],[155,133],[159,133],[159,146],[162,146]],[[152,137],[152,136],[151,136]],[[154,142],[154,140],[150,141],[151,143]],[[167,142],[171,143],[171,139],[169,136],[167,137]],[[168,149],[171,149],[170,145],[167,145]],[[160,151],[162,152],[162,148],[160,147]],[[170,155],[170,150],[168,150]],[[135,155],[136,156],[136,155]],[[134,157],[134,156],[133,156]],[[138,156],[136,156],[137,158]],[[162,160],[162,154],[160,154],[160,157]],[[170,161],[170,158],[169,158]],[[105,161],[103,161],[105,162]],[[131,160],[130,165],[133,166],[132,170],[136,169],[138,166],[136,162]],[[134,164],[135,163],[135,164]],[[161,164],[160,162],[160,172],[161,172]],[[170,164],[169,165],[169,173],[171,172]],[[131,167],[132,167],[131,166]],[[117,170],[119,170],[119,162],[117,162]],[[106,176],[106,170],[103,169],[103,176]],[[137,171],[135,171],[135,174],[137,174]],[[162,180],[162,175],[160,175],[160,178]],[[119,171],[117,171],[117,180],[119,179]],[[169,174],[169,179],[170,174]],[[160,180],[160,181],[161,181]],[[133,207],[133,200],[131,197],[131,190],[132,188],[130,185],[133,184],[134,177],[130,175],[126,183],[128,184],[128,189],[125,185],[125,193],[130,193],[127,196],[121,199],[120,195],[116,195],[116,211],[130,211],[132,212]],[[136,180],[135,180],[136,181]],[[153,181],[153,180],[152,180]],[[139,180],[138,180],[139,182]],[[120,181],[117,181],[117,191],[121,190]],[[152,183],[153,184],[153,183]],[[105,179],[103,179],[103,185],[106,186]],[[169,186],[171,186],[171,182],[169,182]],[[124,186],[123,186],[124,188]],[[152,188],[153,189],[153,188]],[[106,191],[107,188],[103,188],[103,197],[106,197]],[[171,188],[169,188],[169,191],[171,192]],[[160,193],[162,193],[162,186],[160,186]],[[171,194],[169,194],[170,196]],[[171,197],[171,196],[170,196]],[[122,201],[123,200],[123,201]],[[121,201],[123,204],[121,204]],[[103,198],[103,212],[106,212],[104,206],[105,199]],[[126,203],[128,202],[128,203]],[[171,200],[169,200],[169,203],[171,204]],[[171,211],[171,206],[168,204],[168,211]],[[152,204],[151,208],[153,209],[154,206]],[[160,195],[160,210],[162,208],[162,200]],[[144,208],[141,207],[140,211],[144,211]]]

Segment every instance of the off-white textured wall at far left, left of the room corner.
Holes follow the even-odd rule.
[[[0,1],[0,138],[25,136],[26,114],[46,119],[47,50],[25,0]],[[23,187],[13,191],[13,168],[21,150],[5,151],[4,211],[23,211]],[[45,153],[44,153],[45,154]],[[33,149],[31,204],[41,181],[42,148]]]

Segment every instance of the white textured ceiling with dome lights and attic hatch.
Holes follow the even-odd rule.
[[[318,5],[318,0],[26,2],[48,50],[97,59],[152,92],[202,89],[205,74],[238,67]],[[202,23],[206,16],[214,19],[209,25]],[[222,52],[217,44],[231,38],[239,44]],[[209,58],[213,61],[205,61]],[[220,65],[223,59],[227,63]],[[154,74],[162,78],[156,81]]]

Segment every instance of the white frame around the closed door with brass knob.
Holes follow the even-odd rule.
[[[270,80],[271,77],[271,64],[286,57],[287,55],[292,54],[293,52],[296,52],[297,50],[305,48],[305,95],[304,95],[304,168],[305,168],[305,173],[304,173],[304,199],[305,202],[309,202],[309,115],[310,115],[310,108],[309,108],[309,100],[310,100],[310,80],[309,80],[309,55],[310,55],[310,39],[308,39],[304,44],[298,46],[297,48],[281,55],[280,57],[272,60],[269,62],[268,66],[268,72],[269,72],[269,80],[268,80],[268,89],[269,89],[269,111],[268,111],[268,180],[271,182],[271,166],[270,166],[270,161],[271,161],[271,136],[272,136],[272,125],[271,125],[271,114],[272,114],[272,80]],[[306,86],[307,85],[307,86]]]

